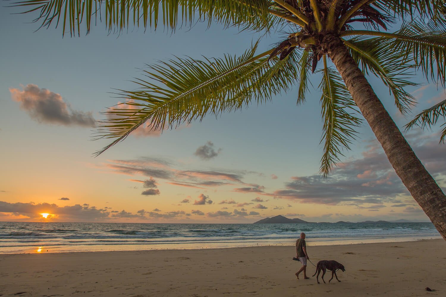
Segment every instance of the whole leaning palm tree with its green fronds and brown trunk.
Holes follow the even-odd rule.
[[[23,0],[12,6],[37,11],[41,27],[62,22],[63,33],[87,33],[93,19],[104,18],[110,31],[128,26],[164,28],[207,21],[240,30],[289,35],[272,49],[256,54],[257,43],[240,56],[196,60],[174,58],[150,65],[135,80],[140,89],[124,91],[124,104],[105,114],[97,137],[116,138],[101,154],[149,123],[153,129],[262,103],[297,85],[297,103],[305,101],[311,73],[319,85],[324,152],[320,172],[328,175],[343,149],[355,139],[355,128],[367,120],[385,154],[413,198],[446,240],[446,196],[425,170],[385,110],[365,75],[386,85],[401,113],[414,98],[405,91],[416,85],[407,77],[415,70],[445,84],[446,33],[442,0]],[[104,13],[105,11],[105,13]],[[25,13],[24,12],[24,13]],[[104,15],[105,14],[105,15]],[[401,28],[387,32],[401,20]],[[68,24],[68,27],[66,27]],[[276,30],[276,31],[274,31]],[[62,34],[63,34],[62,33]],[[267,34],[265,34],[267,35]],[[333,67],[334,65],[334,67]],[[319,66],[319,67],[318,67]],[[311,73],[310,73],[311,72]],[[414,125],[430,126],[445,115],[445,102],[417,116]],[[358,110],[359,109],[359,110]],[[443,131],[444,132],[444,131]],[[445,133],[442,134],[444,141]]]

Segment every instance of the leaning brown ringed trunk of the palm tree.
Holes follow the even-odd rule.
[[[396,174],[446,240],[445,194],[412,151],[341,39],[326,35],[322,44],[381,143]]]

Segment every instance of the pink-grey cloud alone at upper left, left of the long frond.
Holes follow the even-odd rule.
[[[33,84],[26,85],[23,90],[10,88],[9,91],[12,99],[20,103],[21,109],[37,122],[66,126],[95,126],[91,112],[84,113],[71,109],[60,94],[40,89]]]

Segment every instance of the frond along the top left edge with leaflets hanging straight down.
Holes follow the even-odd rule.
[[[13,0],[14,1],[14,0]],[[270,0],[22,0],[12,7],[23,7],[21,13],[37,12],[33,22],[49,28],[59,22],[80,36],[80,25],[90,32],[92,20],[104,20],[109,32],[122,32],[130,25],[157,29],[158,23],[174,31],[197,21],[219,22],[226,27],[264,30],[272,24],[268,12]]]

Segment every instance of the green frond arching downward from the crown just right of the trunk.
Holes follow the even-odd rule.
[[[407,114],[415,104],[415,98],[406,90],[406,86],[417,83],[407,80],[413,73],[410,67],[404,65],[405,57],[400,53],[390,55],[386,50],[381,51],[382,43],[376,39],[360,40],[353,38],[344,40],[351,56],[362,68],[364,74],[370,71],[383,81],[389,88],[389,93],[395,99],[395,105],[401,114]]]

